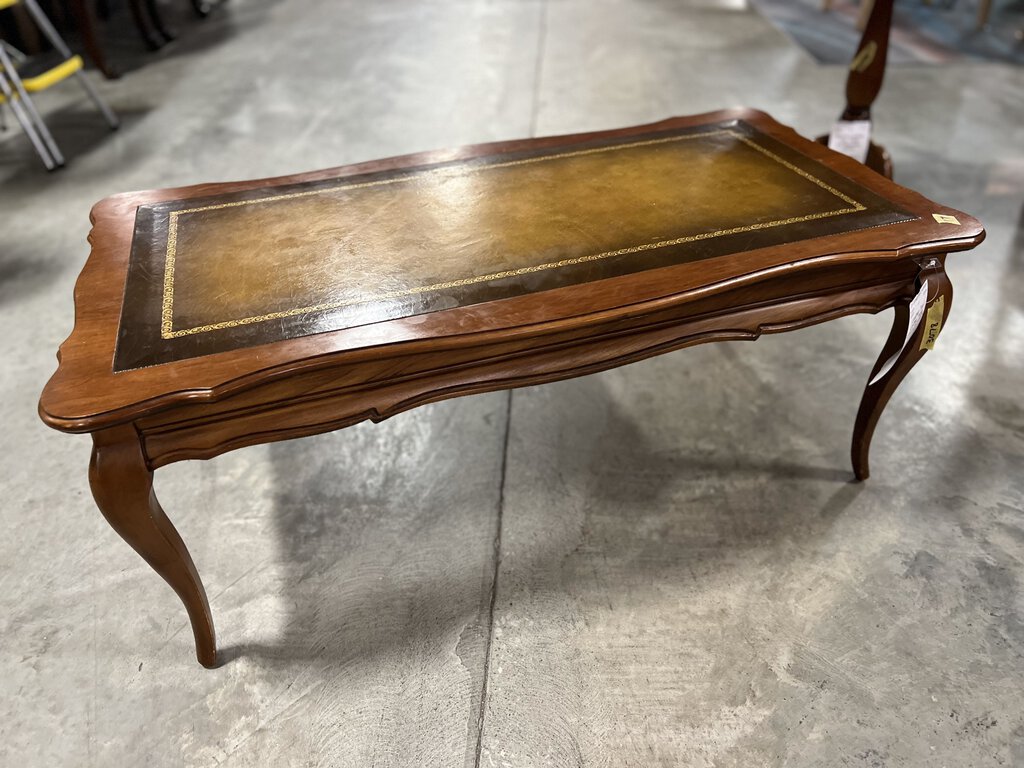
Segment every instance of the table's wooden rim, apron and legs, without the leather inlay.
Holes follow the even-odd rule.
[[[918,218],[114,374],[139,205],[559,146],[581,137],[482,144],[280,179],[133,193],[96,205],[92,254],[75,291],[75,329],[60,348],[60,365],[43,392],[40,415],[56,429],[92,433],[89,478],[96,503],[181,598],[201,664],[217,662],[209,604],[184,544],[153,493],[154,470],[172,462],[367,419],[381,421],[449,397],[582,376],[708,341],[757,339],[894,307],[892,333],[869,380],[897,358],[865,387],[854,427],[854,472],[867,477],[879,417],[928,346],[926,323],[904,343],[910,302],[927,281],[934,337],[952,301],[945,255],[973,248],[984,230],[970,216],[900,187],[763,113],[676,118],[588,137],[728,119],[756,125]]]

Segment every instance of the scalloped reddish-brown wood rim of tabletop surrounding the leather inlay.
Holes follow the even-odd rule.
[[[543,338],[608,319],[622,319],[672,304],[751,284],[768,275],[799,272],[828,263],[895,259],[970,248],[983,237],[970,216],[932,203],[865,169],[855,161],[798,136],[767,115],[748,110],[676,118],[647,126],[588,134],[602,139],[668,130],[713,121],[742,119],[758,130],[820,162],[901,208],[913,221],[844,232],[724,255],[701,263],[680,264],[626,275],[595,285],[569,286],[506,300],[457,307],[417,317],[403,317],[353,329],[224,351],[118,374],[112,360],[118,336],[124,280],[130,255],[134,212],[141,204],[189,197],[223,195],[345,174],[376,173],[430,163],[486,157],[495,153],[538,150],[574,143],[580,136],[483,144],[461,150],[376,161],[274,180],[206,184],[178,189],[135,193],[110,198],[92,212],[92,254],[76,289],[75,330],[60,349],[60,366],[47,384],[40,414],[67,431],[94,431],[152,414],[173,404],[222,399],[272,379],[297,376],[325,366],[345,367],[373,360],[375,366],[403,368],[421,354],[479,347],[512,337]],[[940,224],[933,214],[959,223]],[[441,362],[443,365],[443,362]],[[387,374],[385,374],[386,376]],[[377,377],[380,374],[376,374]],[[301,385],[299,385],[301,388]]]

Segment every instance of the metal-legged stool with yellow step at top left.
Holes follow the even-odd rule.
[[[89,95],[89,98],[95,102],[111,128],[117,128],[119,122],[117,116],[111,111],[111,108],[100,98],[99,94],[92,87],[92,84],[83,75],[82,57],[71,52],[67,43],[57,34],[53,25],[50,24],[50,19],[43,13],[36,0],[0,0],[0,10],[18,3],[25,6],[29,15],[32,16],[36,26],[39,27],[40,32],[43,33],[57,53],[60,54],[61,60],[59,63],[43,72],[23,78],[18,74],[17,67],[15,67],[8,46],[0,40],[0,104],[5,102],[10,104],[14,117],[22,124],[26,135],[42,159],[43,165],[46,166],[46,170],[52,171],[54,168],[65,164],[63,155],[60,154],[60,150],[57,147],[56,141],[53,140],[53,136],[50,135],[46,123],[40,117],[36,104],[29,97],[30,93],[45,90],[74,76],[78,78],[82,87],[85,88],[85,92]]]

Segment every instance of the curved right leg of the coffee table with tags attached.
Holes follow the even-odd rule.
[[[928,297],[924,315],[909,338],[907,332],[910,330],[911,322],[910,299],[907,298],[894,307],[896,314],[892,330],[874,368],[871,369],[853,427],[851,458],[853,472],[858,480],[866,480],[870,474],[867,454],[874,426],[886,403],[903,381],[903,377],[910,373],[910,369],[925,356],[926,351],[932,348],[935,338],[949,316],[953,289],[943,268],[944,258],[929,259],[920,274],[921,284],[928,282]],[[884,370],[885,373],[879,376]]]

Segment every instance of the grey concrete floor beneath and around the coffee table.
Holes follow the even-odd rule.
[[[211,672],[88,439],[35,414],[94,201],[733,104],[815,134],[845,72],[738,1],[231,0],[180,32],[101,83],[117,134],[44,94],[65,171],[0,140],[0,764],[1024,765],[1024,71],[890,72],[897,180],[989,234],[868,482],[886,315],[174,465]]]

